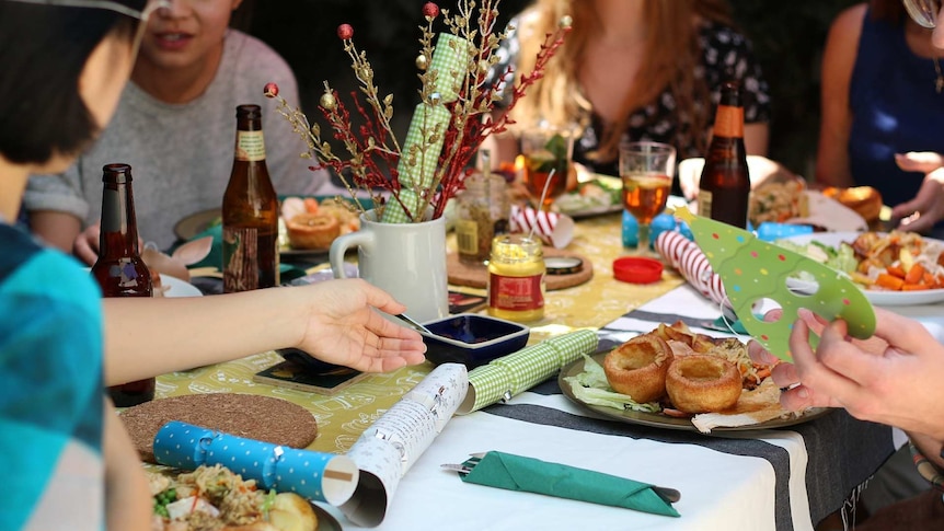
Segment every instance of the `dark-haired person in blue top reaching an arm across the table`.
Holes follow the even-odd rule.
[[[65,170],[111,119],[137,51],[136,18],[153,9],[0,0],[3,530],[99,531],[105,515],[110,529],[150,528],[147,484],[103,385],[284,347],[361,371],[424,359],[416,332],[375,311],[404,307],[360,280],[102,300],[78,262],[14,224],[28,175]]]

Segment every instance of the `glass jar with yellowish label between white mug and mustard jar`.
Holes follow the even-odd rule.
[[[456,196],[456,243],[463,264],[484,265],[492,240],[508,232],[508,195],[499,175],[476,173],[465,180]]]

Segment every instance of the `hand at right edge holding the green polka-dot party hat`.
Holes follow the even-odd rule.
[[[844,407],[863,420],[897,426],[944,440],[944,345],[917,321],[875,309],[875,337],[851,339],[842,320],[822,325],[806,310],[794,323],[794,363],[780,363],[773,378],[787,409]],[[819,346],[809,331],[822,326]],[[876,339],[877,338],[877,339]]]

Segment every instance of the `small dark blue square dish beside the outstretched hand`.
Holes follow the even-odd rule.
[[[516,353],[528,344],[531,330],[504,319],[460,313],[424,323],[426,359],[436,365],[462,363],[469,369]]]

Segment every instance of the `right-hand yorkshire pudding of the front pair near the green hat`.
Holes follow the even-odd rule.
[[[709,413],[729,409],[740,397],[737,367],[713,355],[678,356],[666,374],[666,392],[676,409]]]

